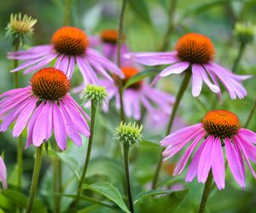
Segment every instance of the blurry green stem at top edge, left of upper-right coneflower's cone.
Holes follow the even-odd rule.
[[[168,27],[162,41],[162,46],[159,49],[160,52],[166,51],[169,48],[170,35],[174,30],[174,14],[175,14],[176,7],[177,7],[177,0],[170,0]]]

